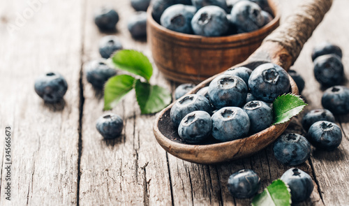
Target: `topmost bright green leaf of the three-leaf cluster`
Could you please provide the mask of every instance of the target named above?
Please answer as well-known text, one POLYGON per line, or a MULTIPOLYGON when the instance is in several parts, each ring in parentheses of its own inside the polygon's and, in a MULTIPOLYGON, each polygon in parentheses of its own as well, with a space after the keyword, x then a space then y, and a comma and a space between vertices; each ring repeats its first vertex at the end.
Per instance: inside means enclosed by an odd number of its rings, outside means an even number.
POLYGON ((140 75, 147 81, 153 74, 153 66, 149 59, 142 52, 135 50, 119 50, 112 57, 112 63, 117 68, 140 75))

